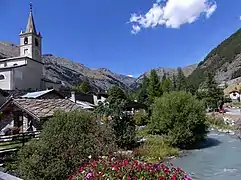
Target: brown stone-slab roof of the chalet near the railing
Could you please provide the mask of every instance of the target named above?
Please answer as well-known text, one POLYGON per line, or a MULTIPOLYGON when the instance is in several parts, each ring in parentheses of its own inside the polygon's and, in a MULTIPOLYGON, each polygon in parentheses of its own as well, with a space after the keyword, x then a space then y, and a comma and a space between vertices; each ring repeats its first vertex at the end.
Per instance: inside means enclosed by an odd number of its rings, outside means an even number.
POLYGON ((11 99, 1 107, 1 111, 10 103, 36 119, 51 117, 57 110, 70 112, 82 109, 68 99, 11 99))

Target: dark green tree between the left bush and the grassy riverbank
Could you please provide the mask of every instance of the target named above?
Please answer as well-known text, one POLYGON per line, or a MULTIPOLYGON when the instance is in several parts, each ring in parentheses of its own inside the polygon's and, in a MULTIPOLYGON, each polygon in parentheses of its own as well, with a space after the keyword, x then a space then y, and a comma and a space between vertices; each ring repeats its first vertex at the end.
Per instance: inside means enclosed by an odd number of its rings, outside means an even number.
POLYGON ((113 86, 108 91, 106 102, 97 108, 100 117, 110 117, 109 124, 113 128, 116 144, 124 149, 129 149, 135 142, 135 124, 126 113, 128 103, 124 91, 113 86))

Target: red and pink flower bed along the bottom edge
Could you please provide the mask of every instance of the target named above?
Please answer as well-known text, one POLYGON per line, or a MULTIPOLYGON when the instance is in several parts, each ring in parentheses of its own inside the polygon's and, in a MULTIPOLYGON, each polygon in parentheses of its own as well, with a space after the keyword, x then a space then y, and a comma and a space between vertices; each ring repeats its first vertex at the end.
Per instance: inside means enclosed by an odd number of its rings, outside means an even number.
POLYGON ((191 180, 180 168, 169 164, 150 164, 138 160, 104 157, 90 160, 68 180, 191 180))

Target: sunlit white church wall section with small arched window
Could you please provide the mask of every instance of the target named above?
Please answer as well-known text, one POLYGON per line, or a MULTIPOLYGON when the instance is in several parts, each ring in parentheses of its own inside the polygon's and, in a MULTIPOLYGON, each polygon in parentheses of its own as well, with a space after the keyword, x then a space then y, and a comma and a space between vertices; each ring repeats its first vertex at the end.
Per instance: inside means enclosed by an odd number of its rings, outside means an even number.
POLYGON ((0 70, 0 88, 3 90, 12 89, 12 71, 9 70, 0 70))

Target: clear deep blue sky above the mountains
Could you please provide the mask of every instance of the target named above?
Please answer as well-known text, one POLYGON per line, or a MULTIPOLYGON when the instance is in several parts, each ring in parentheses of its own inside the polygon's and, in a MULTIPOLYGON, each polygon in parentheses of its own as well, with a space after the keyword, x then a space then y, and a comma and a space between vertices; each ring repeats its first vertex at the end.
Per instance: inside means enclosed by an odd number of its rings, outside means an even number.
MULTIPOLYGON (((134 76, 197 63, 241 27, 240 0, 32 2, 43 53, 134 76)), ((28 0, 1 0, 0 40, 19 43, 28 13, 28 0)))

